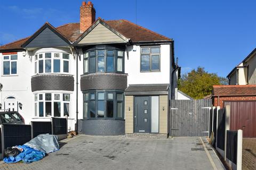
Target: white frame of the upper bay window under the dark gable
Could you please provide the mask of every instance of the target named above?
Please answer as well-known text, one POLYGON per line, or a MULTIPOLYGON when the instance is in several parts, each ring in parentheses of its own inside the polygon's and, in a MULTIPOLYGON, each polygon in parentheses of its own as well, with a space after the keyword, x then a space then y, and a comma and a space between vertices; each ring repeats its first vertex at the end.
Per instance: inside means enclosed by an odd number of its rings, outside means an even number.
POLYGON ((34 73, 35 74, 70 74, 70 54, 69 59, 63 59, 63 54, 69 54, 69 53, 63 53, 63 52, 43 52, 43 53, 36 53, 37 60, 35 60, 34 57, 34 73), (45 53, 51 53, 51 58, 45 58, 45 53), (42 54, 43 57, 39 58, 39 55, 42 54), (59 57, 54 57, 54 54, 59 54, 59 57), (43 60, 43 72, 39 73, 39 61, 43 60), (51 60, 51 72, 46 73, 45 72, 45 60, 51 60), (60 72, 54 72, 54 60, 60 60, 60 72), (68 72, 64 72, 64 61, 68 61, 68 72), (36 64, 35 64, 36 63, 36 64), (35 70, 35 65, 37 66, 37 70, 35 70))

